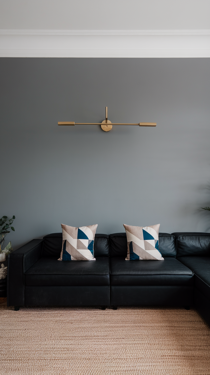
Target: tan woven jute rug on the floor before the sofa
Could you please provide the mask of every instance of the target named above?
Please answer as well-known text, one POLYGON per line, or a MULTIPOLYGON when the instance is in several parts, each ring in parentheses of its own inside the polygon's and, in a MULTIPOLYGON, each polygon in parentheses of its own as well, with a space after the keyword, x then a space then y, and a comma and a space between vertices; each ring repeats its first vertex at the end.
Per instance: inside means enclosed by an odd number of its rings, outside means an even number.
POLYGON ((0 305, 1 375, 209 375, 210 329, 193 309, 0 305))

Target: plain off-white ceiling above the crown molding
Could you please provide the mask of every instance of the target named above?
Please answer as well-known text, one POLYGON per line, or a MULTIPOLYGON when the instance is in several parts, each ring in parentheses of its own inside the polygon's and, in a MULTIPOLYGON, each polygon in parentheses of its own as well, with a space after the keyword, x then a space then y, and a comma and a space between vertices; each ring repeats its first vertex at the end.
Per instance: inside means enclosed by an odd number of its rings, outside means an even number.
POLYGON ((210 29, 210 0, 0 0, 1 29, 210 29))

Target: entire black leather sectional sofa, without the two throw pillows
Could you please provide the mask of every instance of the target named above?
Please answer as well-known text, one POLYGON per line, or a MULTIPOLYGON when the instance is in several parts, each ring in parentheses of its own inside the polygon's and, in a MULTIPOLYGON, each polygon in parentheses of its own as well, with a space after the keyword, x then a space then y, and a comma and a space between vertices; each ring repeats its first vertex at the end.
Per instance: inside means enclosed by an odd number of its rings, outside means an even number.
POLYGON ((210 233, 159 233, 164 261, 126 261, 125 233, 96 234, 96 261, 58 261, 62 233, 9 255, 7 305, 194 305, 210 324, 210 233))

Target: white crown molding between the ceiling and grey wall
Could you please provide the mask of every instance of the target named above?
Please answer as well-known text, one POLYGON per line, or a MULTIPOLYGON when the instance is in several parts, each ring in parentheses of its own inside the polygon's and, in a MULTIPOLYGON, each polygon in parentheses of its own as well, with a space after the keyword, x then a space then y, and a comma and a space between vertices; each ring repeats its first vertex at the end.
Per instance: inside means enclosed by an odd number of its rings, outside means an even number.
POLYGON ((210 57, 210 30, 0 30, 0 57, 210 57))

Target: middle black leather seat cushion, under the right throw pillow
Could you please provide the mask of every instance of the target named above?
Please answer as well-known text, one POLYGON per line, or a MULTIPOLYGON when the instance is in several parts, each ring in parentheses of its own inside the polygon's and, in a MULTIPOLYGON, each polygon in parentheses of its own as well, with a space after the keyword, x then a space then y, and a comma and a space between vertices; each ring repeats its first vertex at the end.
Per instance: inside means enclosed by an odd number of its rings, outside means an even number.
POLYGON ((194 273, 176 258, 163 261, 128 262, 124 257, 110 259, 110 285, 193 285, 194 273))

